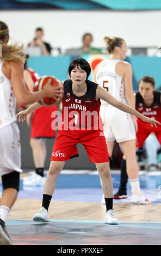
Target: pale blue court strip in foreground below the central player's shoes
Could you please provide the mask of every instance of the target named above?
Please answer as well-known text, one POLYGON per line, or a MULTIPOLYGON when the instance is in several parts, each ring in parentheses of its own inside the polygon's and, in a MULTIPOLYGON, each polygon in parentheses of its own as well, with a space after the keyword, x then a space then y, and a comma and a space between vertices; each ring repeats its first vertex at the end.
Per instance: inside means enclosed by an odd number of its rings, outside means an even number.
MULTIPOLYGON (((8 220, 13 245, 160 245, 161 222, 51 220, 8 220)), ((71 255, 71 254, 70 254, 71 255)), ((77 254, 76 254, 77 255, 77 254)))

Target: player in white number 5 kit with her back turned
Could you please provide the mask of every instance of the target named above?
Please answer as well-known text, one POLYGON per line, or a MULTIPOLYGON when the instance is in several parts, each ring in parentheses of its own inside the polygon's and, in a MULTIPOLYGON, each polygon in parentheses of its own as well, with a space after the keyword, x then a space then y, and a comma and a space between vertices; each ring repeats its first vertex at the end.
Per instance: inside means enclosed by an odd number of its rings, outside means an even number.
MULTIPOLYGON (((135 98, 132 84, 132 66, 123 61, 126 57, 126 41, 122 38, 104 36, 110 58, 96 66, 95 82, 106 88, 117 100, 135 108, 135 98)), ((140 190, 139 168, 135 147, 137 121, 131 114, 123 113, 119 109, 102 101, 100 114, 104 123, 104 135, 107 140, 109 154, 112 155, 114 141, 120 143, 123 150, 122 164, 126 165, 127 174, 131 181, 133 203, 149 204, 140 190)), ((127 197, 126 191, 121 191, 122 198, 127 197)), ((102 203, 103 203, 102 199, 102 203)))

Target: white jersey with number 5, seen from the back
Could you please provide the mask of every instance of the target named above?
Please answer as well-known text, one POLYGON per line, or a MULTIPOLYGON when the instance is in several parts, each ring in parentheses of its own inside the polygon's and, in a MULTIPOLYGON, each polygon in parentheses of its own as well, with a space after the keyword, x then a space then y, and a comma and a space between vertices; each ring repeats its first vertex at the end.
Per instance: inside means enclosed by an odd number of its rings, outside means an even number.
MULTIPOLYGON (((116 100, 127 104, 124 78, 119 76, 115 71, 116 64, 120 61, 121 60, 119 59, 103 60, 103 62, 100 63, 100 67, 96 75, 96 83, 104 89, 107 89, 116 100)), ((104 100, 101 100, 101 103, 102 105, 108 104, 104 100)))

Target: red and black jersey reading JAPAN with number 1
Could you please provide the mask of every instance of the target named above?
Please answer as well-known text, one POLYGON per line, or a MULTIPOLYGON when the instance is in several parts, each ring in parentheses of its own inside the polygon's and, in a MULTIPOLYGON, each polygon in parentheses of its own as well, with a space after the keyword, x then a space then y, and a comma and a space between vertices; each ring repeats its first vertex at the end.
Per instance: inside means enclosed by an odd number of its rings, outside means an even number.
POLYGON ((87 80, 86 86, 87 92, 78 97, 72 92, 72 81, 65 80, 59 130, 103 130, 101 102, 96 101, 98 84, 87 80))

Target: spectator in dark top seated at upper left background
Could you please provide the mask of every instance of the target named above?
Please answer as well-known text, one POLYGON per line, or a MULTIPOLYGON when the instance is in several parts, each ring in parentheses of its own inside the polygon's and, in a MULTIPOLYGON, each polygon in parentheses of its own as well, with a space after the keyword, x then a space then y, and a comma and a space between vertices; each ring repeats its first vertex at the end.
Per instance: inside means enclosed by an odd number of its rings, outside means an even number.
POLYGON ((28 47, 40 47, 41 54, 48 56, 51 54, 52 47, 43 41, 44 31, 42 28, 35 29, 35 38, 28 44, 28 47))

